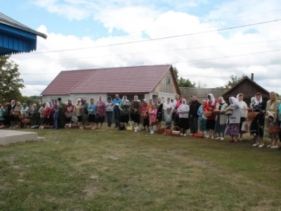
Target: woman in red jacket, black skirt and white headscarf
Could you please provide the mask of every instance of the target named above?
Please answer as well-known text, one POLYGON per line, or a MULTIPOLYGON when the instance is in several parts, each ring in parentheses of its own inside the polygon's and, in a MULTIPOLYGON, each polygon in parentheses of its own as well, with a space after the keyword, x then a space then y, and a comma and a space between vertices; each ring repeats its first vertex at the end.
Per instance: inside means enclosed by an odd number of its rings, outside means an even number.
MULTIPOLYGON (((214 111, 215 106, 218 101, 214 98, 213 94, 208 94, 207 96, 207 103, 205 104, 203 110, 204 111, 214 111)), ((210 117, 207 117, 207 122, 206 122, 206 129, 209 129, 209 136, 207 138, 214 139, 214 129, 216 125, 216 114, 213 112, 210 117)))

